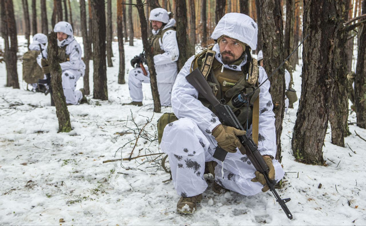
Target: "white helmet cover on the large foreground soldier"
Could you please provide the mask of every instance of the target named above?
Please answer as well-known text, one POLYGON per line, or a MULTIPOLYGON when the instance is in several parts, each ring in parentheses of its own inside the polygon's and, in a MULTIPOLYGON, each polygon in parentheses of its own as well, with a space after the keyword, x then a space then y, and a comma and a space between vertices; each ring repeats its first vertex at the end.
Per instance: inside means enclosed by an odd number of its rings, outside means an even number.
POLYGON ((217 23, 211 38, 218 39, 221 35, 238 39, 249 45, 252 50, 257 49, 257 23, 245 14, 236 12, 225 14, 217 23))

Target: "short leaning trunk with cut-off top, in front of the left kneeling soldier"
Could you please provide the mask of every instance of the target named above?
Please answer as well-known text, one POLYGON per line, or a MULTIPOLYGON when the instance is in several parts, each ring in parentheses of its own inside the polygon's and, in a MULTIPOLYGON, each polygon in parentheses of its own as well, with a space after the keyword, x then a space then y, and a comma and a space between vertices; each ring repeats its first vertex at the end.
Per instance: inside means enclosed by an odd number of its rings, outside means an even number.
POLYGON ((66 98, 62 88, 61 67, 59 61, 59 50, 57 46, 57 34, 51 31, 48 38, 48 63, 51 72, 52 97, 55 102, 56 116, 59 120, 59 132, 70 132, 70 114, 66 105, 66 98))

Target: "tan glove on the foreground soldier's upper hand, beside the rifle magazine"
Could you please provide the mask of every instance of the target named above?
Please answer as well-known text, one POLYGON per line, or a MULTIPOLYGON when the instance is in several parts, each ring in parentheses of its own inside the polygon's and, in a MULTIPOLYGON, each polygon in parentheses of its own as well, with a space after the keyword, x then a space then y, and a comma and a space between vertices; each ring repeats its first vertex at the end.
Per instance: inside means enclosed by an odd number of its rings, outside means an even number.
POLYGON ((226 125, 217 125, 212 130, 212 135, 215 137, 217 144, 227 152, 235 153, 236 147, 241 148, 238 136, 245 135, 245 131, 235 129, 226 125))

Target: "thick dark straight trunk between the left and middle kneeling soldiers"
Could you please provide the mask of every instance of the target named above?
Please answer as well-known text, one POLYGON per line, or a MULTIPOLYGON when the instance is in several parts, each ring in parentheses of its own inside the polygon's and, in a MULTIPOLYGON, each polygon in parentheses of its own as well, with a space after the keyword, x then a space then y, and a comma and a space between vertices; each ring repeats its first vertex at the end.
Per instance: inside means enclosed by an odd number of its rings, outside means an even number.
POLYGON ((107 67, 105 63, 105 6, 104 1, 90 0, 93 14, 93 98, 108 100, 107 67))

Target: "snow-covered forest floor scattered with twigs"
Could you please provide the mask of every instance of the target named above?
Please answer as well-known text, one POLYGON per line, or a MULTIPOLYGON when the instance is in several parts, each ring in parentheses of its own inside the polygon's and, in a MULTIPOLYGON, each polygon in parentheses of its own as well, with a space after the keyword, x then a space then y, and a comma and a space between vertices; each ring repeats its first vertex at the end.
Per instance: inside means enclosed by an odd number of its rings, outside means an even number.
MULTIPOLYGON (((23 46, 24 37, 18 38, 23 46)), ((141 40, 134 43, 124 46, 126 80, 130 59, 142 50, 141 40)), ((212 176, 207 175, 209 187, 198 211, 180 215, 176 213, 180 196, 172 182, 161 182, 169 175, 157 170, 153 161, 146 162, 156 155, 102 163, 127 158, 135 146, 134 131, 138 133, 137 126, 142 128, 147 120, 152 119, 145 131, 154 139, 156 120, 172 111, 153 113, 149 84, 143 84, 144 106, 121 105, 131 99, 127 83, 117 83, 117 45, 113 42, 114 67, 107 68, 109 100, 89 95, 89 105, 68 106, 73 127, 69 133, 57 133, 49 95, 25 91, 21 62, 20 90, 5 87, 5 65, 0 64, 0 225, 366 225, 366 142, 354 132, 366 138, 366 131, 350 125, 352 135, 345 140, 350 147, 341 148, 330 143, 329 129, 323 148, 328 166, 298 163, 291 150, 298 102, 285 114, 281 136, 286 174, 278 192, 291 198, 287 203, 294 215, 291 221, 269 192, 251 197, 235 192, 217 195, 211 189, 212 176)), ((90 66, 92 93, 92 62, 90 66)), ((296 66, 298 97, 300 74, 301 67, 296 66)), ((77 88, 82 86, 79 79, 77 88)), ((355 122, 355 113, 349 120, 355 122)), ((158 152, 157 141, 140 137, 132 157, 158 152)))

